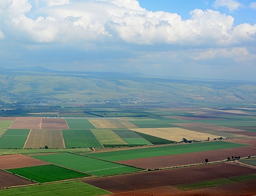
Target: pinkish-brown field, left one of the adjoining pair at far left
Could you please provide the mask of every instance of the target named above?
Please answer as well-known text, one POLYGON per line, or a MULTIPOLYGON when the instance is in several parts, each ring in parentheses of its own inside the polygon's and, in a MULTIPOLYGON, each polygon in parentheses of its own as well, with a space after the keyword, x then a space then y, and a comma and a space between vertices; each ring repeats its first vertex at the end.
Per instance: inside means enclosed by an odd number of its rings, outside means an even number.
POLYGON ((10 129, 41 129, 41 117, 17 117, 10 129))

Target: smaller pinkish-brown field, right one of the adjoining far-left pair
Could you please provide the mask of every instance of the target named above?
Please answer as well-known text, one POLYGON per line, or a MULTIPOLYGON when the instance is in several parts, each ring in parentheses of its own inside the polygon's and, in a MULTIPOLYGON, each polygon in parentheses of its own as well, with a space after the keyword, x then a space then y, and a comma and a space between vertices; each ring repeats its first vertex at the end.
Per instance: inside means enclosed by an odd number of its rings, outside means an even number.
POLYGON ((65 119, 43 118, 41 129, 69 129, 65 119))

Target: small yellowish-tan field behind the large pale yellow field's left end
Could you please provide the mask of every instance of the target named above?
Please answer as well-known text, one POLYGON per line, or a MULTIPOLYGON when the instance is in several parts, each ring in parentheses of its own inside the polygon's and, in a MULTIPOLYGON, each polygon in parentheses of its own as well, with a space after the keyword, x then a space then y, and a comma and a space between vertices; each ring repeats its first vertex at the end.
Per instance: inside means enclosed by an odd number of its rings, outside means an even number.
POLYGON ((138 128, 122 119, 88 119, 97 129, 138 128))

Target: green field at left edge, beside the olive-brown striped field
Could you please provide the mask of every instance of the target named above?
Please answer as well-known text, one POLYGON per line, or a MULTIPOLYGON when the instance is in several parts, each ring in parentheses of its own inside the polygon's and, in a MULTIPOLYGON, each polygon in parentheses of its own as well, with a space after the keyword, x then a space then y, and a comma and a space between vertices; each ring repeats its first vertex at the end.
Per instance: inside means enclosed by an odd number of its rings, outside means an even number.
POLYGON ((0 138, 1 149, 23 149, 29 129, 8 129, 0 138))

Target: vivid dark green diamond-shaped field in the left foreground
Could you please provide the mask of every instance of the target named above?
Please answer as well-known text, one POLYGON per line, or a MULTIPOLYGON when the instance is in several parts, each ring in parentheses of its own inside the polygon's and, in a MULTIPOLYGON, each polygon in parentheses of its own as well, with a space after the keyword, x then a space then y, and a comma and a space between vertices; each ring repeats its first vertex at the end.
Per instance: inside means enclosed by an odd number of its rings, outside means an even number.
POLYGON ((68 168, 56 166, 53 164, 29 166, 24 168, 8 169, 12 173, 16 173, 28 179, 33 179, 36 182, 53 182, 63 179, 72 179, 79 177, 88 177, 86 173, 73 171, 68 168))

